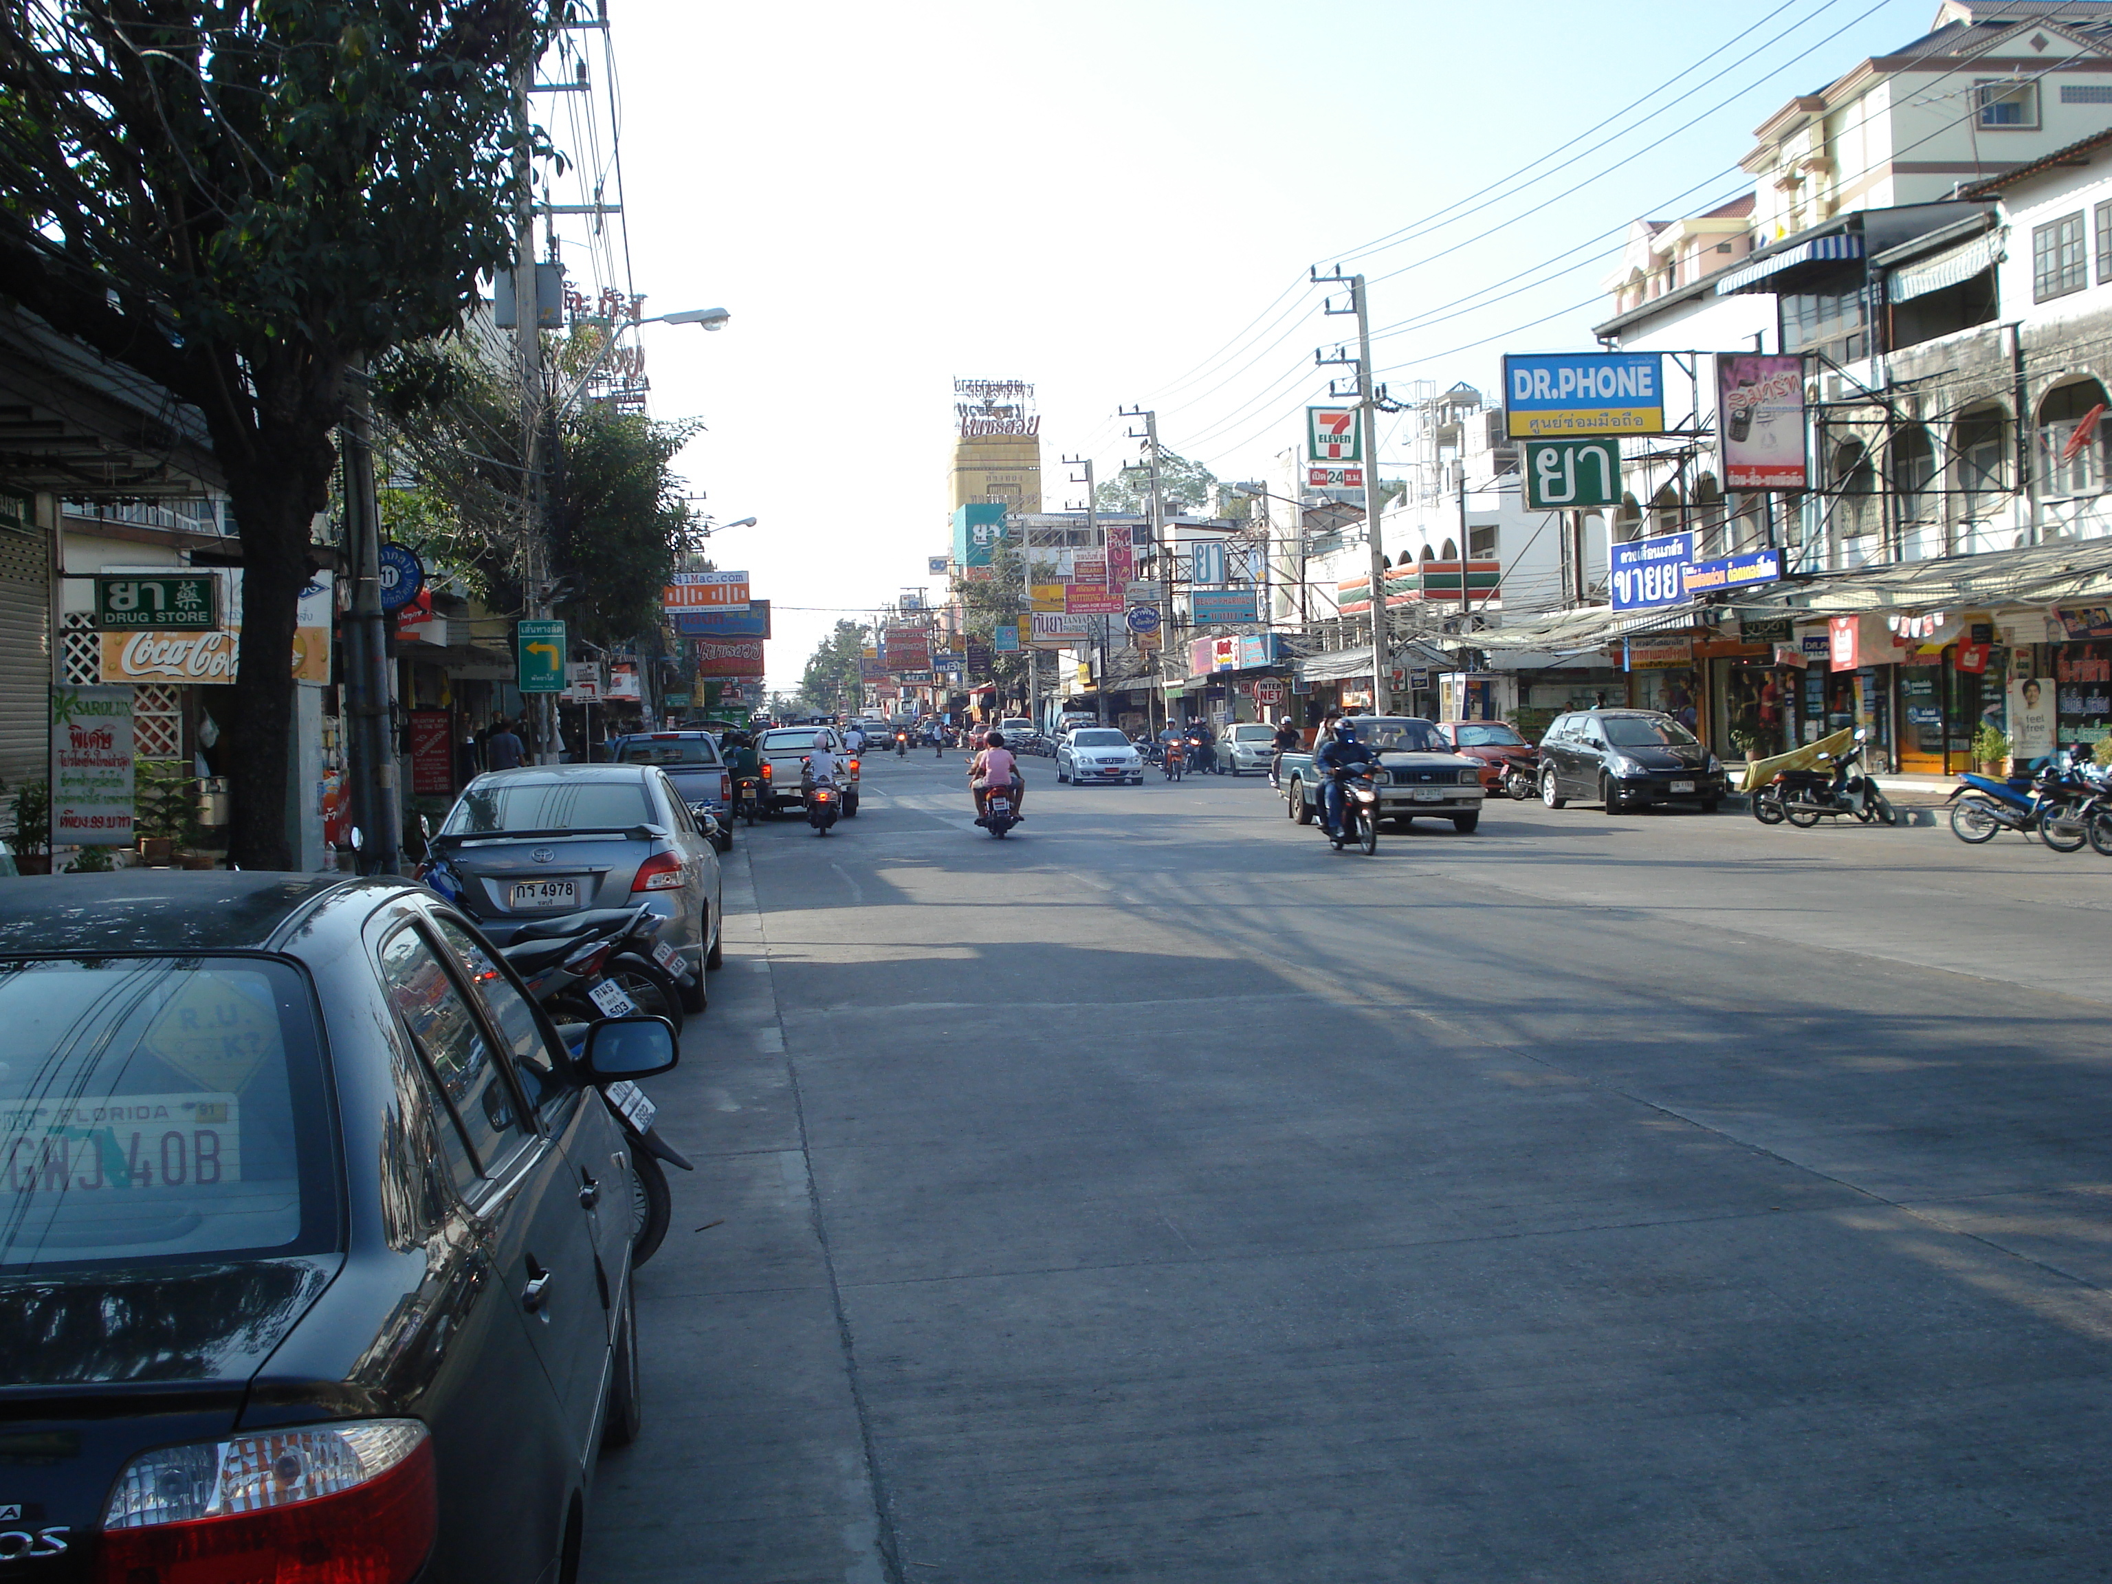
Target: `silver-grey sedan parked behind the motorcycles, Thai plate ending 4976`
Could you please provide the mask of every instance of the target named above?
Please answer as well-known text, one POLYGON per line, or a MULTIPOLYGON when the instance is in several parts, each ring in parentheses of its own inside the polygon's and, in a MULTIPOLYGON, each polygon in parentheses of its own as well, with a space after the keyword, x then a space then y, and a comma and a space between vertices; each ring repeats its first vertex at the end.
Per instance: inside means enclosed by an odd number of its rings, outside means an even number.
POLYGON ((718 967, 718 851, 655 765, 539 765, 471 781, 433 834, 460 906, 505 946, 530 919, 644 902, 661 944, 718 967))

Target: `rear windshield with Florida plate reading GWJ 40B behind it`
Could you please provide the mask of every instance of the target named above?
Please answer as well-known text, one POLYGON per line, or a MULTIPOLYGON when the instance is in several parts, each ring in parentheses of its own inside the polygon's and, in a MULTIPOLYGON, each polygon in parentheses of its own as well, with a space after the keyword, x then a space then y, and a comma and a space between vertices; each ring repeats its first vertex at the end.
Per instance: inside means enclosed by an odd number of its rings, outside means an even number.
POLYGON ((0 1269, 338 1242, 306 980, 260 957, 0 959, 0 1269))

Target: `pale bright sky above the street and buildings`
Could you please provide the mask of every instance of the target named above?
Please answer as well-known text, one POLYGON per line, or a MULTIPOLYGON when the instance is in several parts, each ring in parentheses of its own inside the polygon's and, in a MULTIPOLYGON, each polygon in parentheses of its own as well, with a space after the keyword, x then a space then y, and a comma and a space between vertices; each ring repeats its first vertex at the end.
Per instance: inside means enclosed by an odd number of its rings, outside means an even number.
POLYGON ((1293 444, 1312 348, 1352 323, 1282 296, 1309 264, 1411 230, 1356 260, 1375 323, 1430 319, 1377 348, 1396 389, 1588 346, 1633 218, 1738 192, 1753 127, 1935 11, 610 0, 646 313, 733 310, 716 336, 644 332, 653 408, 710 425, 686 475, 716 515, 760 520, 714 555, 775 602, 788 684, 838 608, 923 587, 946 547, 953 376, 1039 386, 1052 507, 1077 494, 1060 454, 1132 454, 1113 414, 1134 403, 1246 477, 1293 444), (1645 95, 1554 156, 1582 154, 1569 169, 1472 199, 1645 95), (1495 287, 1519 296, 1451 306, 1567 249, 1495 287))

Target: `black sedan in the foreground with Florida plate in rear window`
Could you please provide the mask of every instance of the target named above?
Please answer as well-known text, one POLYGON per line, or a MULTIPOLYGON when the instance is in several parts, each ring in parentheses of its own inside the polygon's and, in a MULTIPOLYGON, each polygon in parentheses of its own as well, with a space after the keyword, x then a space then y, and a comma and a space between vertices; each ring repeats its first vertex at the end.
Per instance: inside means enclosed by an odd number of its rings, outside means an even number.
POLYGON ((638 1432, 631 1183, 593 1083, 401 881, 0 883, 0 1569, 568 1578, 638 1432))

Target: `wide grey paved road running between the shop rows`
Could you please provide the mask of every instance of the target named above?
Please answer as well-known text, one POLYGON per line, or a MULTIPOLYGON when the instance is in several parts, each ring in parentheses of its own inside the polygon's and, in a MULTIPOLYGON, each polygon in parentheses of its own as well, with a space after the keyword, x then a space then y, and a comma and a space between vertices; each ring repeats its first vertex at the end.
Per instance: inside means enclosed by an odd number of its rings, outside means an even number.
POLYGON ((741 830, 587 1580, 2112 1571, 2112 864, 1029 775, 741 830))

